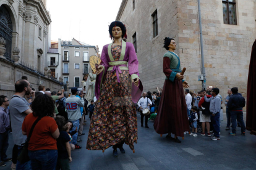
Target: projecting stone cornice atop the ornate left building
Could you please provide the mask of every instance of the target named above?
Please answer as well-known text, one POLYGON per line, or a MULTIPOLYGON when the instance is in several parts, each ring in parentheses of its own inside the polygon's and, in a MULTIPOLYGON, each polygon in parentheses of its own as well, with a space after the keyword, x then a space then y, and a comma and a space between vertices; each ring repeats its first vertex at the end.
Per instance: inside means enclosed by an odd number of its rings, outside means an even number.
POLYGON ((27 5, 35 6, 38 9, 38 13, 45 19, 46 25, 51 23, 51 18, 41 0, 24 0, 27 5))

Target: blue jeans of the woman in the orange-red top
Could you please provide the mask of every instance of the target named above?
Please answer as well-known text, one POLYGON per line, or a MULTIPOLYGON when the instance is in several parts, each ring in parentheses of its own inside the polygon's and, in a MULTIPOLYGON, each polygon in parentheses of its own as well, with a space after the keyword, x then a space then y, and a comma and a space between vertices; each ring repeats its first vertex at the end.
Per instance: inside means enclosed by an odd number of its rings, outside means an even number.
POLYGON ((55 170, 58 158, 57 150, 28 150, 32 170, 55 170))

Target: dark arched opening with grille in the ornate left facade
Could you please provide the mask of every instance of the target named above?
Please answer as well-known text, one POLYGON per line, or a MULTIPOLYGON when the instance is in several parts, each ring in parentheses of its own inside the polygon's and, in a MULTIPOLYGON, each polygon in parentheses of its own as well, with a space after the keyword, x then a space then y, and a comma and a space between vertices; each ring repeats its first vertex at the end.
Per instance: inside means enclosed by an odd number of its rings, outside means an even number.
POLYGON ((6 7, 0 7, 0 37, 6 39, 6 54, 4 57, 11 60, 12 54, 12 18, 6 7))

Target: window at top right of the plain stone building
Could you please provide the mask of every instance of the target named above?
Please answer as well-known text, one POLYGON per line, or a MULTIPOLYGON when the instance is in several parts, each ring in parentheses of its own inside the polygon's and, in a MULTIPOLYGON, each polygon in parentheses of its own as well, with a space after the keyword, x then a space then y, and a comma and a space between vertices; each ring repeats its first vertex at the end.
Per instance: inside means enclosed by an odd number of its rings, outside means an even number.
POLYGON ((223 0, 224 24, 237 25, 236 23, 236 0, 223 0))

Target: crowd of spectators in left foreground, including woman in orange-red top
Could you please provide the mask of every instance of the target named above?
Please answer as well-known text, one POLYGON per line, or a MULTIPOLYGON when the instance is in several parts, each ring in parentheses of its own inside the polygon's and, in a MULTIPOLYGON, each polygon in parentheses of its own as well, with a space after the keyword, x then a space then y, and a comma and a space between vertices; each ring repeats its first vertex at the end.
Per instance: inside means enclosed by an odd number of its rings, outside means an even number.
POLYGON ((0 95, 0 166, 12 161, 11 169, 70 169, 71 151, 80 149, 79 136, 85 135, 85 115, 92 116, 94 101, 85 99, 83 89, 72 87, 51 92, 39 86, 35 92, 26 76, 15 83, 11 99, 0 95), (14 147, 7 157, 9 132, 14 147), (23 150, 28 143, 30 161, 23 161, 23 150))

